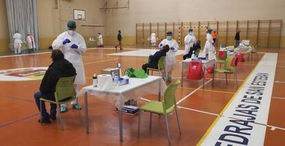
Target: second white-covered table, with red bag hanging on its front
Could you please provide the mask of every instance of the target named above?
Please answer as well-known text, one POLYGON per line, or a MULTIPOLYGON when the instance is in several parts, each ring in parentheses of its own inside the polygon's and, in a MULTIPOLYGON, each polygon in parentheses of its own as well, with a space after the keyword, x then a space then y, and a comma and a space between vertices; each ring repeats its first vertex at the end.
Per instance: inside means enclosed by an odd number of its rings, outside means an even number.
MULTIPOLYGON (((184 71, 188 71, 188 70, 184 70, 184 67, 189 68, 189 63, 191 62, 191 59, 185 59, 184 61, 181 61, 181 87, 183 87, 183 75, 184 75, 184 71)), ((209 66, 213 66, 213 68, 215 68, 215 59, 209 59, 209 60, 202 60, 202 65, 203 65, 203 73, 204 73, 204 77, 203 77, 203 88, 205 86, 205 74, 206 74, 206 70, 207 67, 209 66)))

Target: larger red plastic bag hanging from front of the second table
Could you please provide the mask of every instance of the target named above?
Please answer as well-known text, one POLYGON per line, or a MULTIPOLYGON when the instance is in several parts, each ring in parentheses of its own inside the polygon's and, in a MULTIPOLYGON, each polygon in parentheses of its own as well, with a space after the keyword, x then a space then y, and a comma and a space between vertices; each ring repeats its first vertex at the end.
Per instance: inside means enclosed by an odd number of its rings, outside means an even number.
POLYGON ((201 61, 191 61, 189 66, 189 71, 187 74, 187 79, 200 80, 204 77, 204 72, 202 69, 201 61))

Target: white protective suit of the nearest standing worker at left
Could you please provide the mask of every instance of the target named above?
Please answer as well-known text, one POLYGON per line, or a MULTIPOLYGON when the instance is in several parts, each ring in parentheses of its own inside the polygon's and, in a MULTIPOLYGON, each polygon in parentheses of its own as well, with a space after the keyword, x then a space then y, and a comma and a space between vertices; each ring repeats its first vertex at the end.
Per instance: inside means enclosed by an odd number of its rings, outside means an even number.
POLYGON ((59 49, 63 52, 64 58, 67 61, 70 61, 76 70, 76 77, 74 80, 75 85, 85 84, 85 72, 83 67, 82 55, 86 52, 86 44, 83 39, 83 36, 78 34, 77 32, 73 32, 72 36, 67 32, 63 32, 59 34, 57 38, 52 43, 52 48, 54 50, 59 49), (70 43, 66 43, 63 45, 63 41, 65 39, 70 39, 70 43), (77 49, 70 48, 72 44, 78 45, 77 49))

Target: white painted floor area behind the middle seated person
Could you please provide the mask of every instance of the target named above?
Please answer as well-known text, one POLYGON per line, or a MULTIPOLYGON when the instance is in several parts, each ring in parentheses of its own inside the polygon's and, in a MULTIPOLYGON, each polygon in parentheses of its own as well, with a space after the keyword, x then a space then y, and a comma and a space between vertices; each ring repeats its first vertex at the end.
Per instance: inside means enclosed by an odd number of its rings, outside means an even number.
MULTIPOLYGON (((141 49, 141 50, 134 50, 129 52, 118 52, 112 53, 107 55, 116 55, 116 56, 149 56, 150 54, 154 54, 158 51, 158 49, 141 49)), ((178 50, 176 52, 176 56, 184 54, 184 50, 178 50)))

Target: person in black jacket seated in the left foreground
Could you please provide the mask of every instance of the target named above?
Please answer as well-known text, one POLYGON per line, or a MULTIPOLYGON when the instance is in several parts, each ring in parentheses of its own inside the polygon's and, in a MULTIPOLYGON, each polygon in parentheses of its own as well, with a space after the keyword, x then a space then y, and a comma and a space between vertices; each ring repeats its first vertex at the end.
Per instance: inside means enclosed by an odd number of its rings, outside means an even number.
MULTIPOLYGON (((40 91, 34 94, 34 100, 36 101, 36 106, 40 109, 39 98, 45 98, 51 101, 55 101, 54 92, 56 90, 56 83, 61 77, 75 76, 76 70, 72 63, 64 59, 64 55, 61 50, 52 51, 52 64, 48 67, 41 81, 40 91)), ((42 122, 50 123, 50 118, 56 120, 56 105, 50 103, 50 115, 45 109, 45 103, 41 102, 42 107, 42 122)), ((40 122, 40 119, 39 119, 40 122)))

